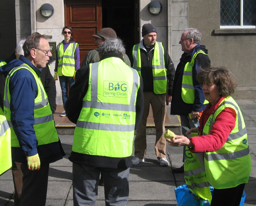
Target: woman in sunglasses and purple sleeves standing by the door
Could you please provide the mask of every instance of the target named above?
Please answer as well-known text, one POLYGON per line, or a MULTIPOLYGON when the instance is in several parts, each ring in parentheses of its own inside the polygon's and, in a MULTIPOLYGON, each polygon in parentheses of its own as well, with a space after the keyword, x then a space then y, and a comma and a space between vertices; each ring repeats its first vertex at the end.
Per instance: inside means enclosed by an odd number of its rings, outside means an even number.
POLYGON ((78 43, 73 38, 71 27, 65 26, 62 29, 64 40, 60 42, 56 49, 56 63, 54 79, 58 80, 62 92, 64 111, 60 116, 66 116, 65 103, 68 99, 68 90, 75 83, 75 73, 80 68, 80 54, 78 43))

